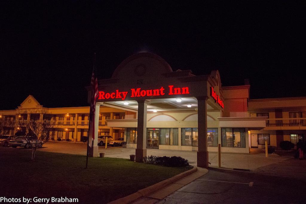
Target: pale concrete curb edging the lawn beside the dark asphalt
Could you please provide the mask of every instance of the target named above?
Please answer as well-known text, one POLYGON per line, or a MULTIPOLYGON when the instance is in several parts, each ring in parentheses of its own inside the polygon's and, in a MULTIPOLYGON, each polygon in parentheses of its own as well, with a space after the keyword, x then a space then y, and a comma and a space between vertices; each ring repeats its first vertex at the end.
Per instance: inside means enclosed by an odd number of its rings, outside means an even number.
POLYGON ((166 179, 166 180, 163 180, 157 184, 153 184, 147 188, 144 188, 144 189, 141 189, 139 191, 137 191, 136 193, 133 193, 131 195, 128 195, 128 196, 125 196, 123 198, 120 198, 120 199, 117 199, 117 200, 114 200, 112 202, 109 202, 109 204, 128 204, 136 199, 139 199, 141 197, 144 197, 144 196, 147 196, 147 195, 150 195, 152 193, 154 193, 155 191, 158 191, 162 188, 165 188, 166 186, 176 182, 177 180, 180 180, 186 176, 189 176, 190 174, 192 173, 195 173, 196 171, 198 170, 197 167, 193 166, 192 169, 188 170, 188 171, 185 171, 183 173, 180 173, 174 177, 171 177, 169 179, 166 179))

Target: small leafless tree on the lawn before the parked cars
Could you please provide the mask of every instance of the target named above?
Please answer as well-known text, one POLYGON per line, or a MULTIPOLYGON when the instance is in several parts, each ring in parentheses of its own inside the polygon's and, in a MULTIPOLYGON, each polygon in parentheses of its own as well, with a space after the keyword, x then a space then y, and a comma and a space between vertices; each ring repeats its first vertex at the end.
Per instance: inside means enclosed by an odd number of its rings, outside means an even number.
MULTIPOLYGON (((33 112, 27 114, 48 114, 46 111, 33 112)), ((50 113, 49 113, 50 114, 50 113)), ((32 148, 32 160, 35 158, 37 148, 42 147, 46 143, 50 136, 50 131, 55 128, 56 121, 52 118, 44 119, 43 117, 17 119, 15 128, 20 131, 24 131, 24 137, 27 140, 27 144, 32 148)))

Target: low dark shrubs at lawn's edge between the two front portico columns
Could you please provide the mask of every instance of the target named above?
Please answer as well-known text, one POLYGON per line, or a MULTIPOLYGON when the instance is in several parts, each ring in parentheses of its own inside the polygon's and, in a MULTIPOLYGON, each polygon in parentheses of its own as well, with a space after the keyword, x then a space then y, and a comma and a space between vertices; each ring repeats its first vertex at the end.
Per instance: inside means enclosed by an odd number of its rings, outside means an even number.
POLYGON ((181 167, 181 166, 189 166, 188 160, 172 156, 172 157, 157 157, 157 156, 147 156, 144 157, 144 162, 156 164, 156 165, 162 165, 162 166, 171 166, 171 167, 181 167))

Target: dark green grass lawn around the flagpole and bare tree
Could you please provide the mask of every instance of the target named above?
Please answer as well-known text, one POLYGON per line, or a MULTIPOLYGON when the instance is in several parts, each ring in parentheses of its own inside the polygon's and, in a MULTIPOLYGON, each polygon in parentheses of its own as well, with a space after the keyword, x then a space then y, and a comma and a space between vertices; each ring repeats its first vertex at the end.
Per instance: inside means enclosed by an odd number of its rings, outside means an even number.
POLYGON ((191 167, 164 167, 121 158, 86 156, 0 147, 0 196, 78 198, 107 203, 135 193, 191 167))

